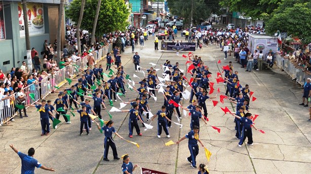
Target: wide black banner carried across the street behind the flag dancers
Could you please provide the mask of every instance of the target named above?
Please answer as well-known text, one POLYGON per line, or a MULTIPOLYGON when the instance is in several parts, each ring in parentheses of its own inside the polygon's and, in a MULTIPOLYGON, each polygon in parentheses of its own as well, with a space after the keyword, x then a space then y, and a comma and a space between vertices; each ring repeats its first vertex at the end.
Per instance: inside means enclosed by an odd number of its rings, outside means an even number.
POLYGON ((167 51, 196 51, 195 42, 161 42, 161 50, 167 51))

